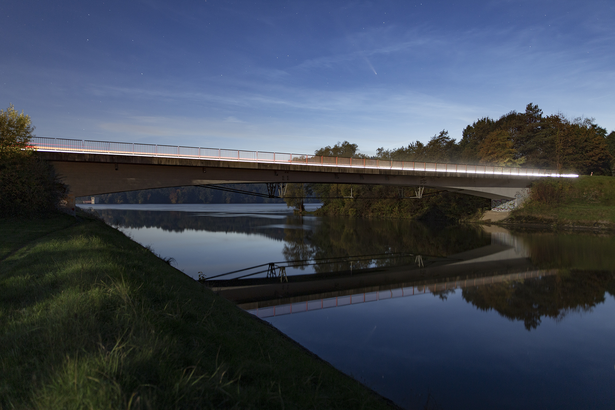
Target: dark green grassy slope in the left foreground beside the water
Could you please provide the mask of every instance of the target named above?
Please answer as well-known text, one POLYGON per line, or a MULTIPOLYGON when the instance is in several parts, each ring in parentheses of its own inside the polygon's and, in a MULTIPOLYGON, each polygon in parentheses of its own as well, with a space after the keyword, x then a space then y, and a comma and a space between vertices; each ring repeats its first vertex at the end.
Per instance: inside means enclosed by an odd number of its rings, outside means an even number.
POLYGON ((2 221, 0 409, 394 407, 101 221, 2 221))

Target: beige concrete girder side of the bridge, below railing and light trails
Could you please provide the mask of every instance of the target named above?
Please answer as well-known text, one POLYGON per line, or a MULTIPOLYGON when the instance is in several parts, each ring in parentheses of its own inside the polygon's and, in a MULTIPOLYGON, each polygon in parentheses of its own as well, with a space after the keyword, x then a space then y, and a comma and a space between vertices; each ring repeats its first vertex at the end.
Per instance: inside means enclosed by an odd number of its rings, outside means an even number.
POLYGON ((76 197, 174 186, 235 183, 330 183, 426 186, 488 199, 522 200, 537 177, 349 168, 235 160, 39 152, 76 197))

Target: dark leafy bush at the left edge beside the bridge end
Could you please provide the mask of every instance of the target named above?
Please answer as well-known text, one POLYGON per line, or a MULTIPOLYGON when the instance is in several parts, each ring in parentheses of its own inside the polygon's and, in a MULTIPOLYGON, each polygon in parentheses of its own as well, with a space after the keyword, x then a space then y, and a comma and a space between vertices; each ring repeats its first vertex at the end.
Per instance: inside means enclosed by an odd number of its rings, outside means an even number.
POLYGON ((33 131, 30 116, 12 105, 0 110, 0 215, 4 218, 46 215, 65 192, 52 167, 28 145, 33 131))

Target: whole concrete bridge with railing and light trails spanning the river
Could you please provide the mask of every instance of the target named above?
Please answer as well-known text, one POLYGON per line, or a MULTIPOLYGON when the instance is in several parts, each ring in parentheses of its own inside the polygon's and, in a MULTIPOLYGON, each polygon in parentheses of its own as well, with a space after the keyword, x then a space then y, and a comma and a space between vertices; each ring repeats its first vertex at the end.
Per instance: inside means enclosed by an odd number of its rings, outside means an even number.
POLYGON ((75 197, 174 186, 337 183, 423 186, 518 205, 530 184, 555 170, 442 164, 35 137, 75 197))

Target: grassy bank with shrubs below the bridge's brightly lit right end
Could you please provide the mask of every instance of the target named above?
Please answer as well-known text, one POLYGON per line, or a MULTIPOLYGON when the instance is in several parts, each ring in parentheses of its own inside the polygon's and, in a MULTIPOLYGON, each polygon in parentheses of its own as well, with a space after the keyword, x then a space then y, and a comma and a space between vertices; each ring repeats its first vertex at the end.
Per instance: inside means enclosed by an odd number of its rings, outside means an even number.
POLYGON ((579 176, 534 184, 530 199, 502 222, 615 229, 615 178, 579 176))

